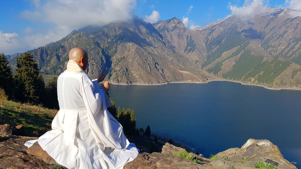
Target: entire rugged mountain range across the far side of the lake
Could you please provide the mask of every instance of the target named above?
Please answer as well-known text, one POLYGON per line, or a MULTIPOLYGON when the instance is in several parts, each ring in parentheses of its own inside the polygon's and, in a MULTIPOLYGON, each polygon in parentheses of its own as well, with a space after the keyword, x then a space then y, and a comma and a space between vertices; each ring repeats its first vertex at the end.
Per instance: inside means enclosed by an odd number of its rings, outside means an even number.
POLYGON ((89 55, 88 75, 95 78, 105 70, 106 80, 114 83, 228 79, 300 87, 301 17, 292 15, 299 11, 262 6, 257 10, 253 16, 232 15, 195 29, 178 18, 150 24, 136 16, 74 30, 29 52, 41 72, 59 75, 68 51, 81 47, 89 55))

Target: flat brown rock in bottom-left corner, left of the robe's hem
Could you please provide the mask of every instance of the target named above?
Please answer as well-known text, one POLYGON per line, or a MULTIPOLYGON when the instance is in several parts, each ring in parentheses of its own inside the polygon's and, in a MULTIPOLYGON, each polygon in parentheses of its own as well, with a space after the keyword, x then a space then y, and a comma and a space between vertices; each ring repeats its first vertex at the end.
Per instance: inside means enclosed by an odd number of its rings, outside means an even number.
POLYGON ((40 157, 26 153, 24 143, 37 137, 5 136, 9 140, 0 142, 0 168, 32 168, 53 169, 52 165, 46 164, 40 157))

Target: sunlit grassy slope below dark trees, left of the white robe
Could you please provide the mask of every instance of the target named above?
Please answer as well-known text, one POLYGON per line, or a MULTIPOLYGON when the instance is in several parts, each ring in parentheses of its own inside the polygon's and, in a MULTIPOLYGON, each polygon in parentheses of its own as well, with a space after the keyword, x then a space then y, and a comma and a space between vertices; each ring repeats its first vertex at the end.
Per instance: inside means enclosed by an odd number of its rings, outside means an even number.
POLYGON ((42 105, 21 104, 7 101, 0 105, 0 122, 23 125, 26 135, 40 136, 51 129, 51 122, 57 110, 43 108, 42 105))

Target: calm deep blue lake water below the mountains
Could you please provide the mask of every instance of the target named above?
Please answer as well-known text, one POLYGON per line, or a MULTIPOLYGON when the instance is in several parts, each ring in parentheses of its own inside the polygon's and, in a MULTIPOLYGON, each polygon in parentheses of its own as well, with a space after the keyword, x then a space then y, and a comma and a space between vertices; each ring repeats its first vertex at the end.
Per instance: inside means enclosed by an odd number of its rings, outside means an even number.
POLYGON ((301 90, 227 81, 112 85, 115 105, 135 110, 137 127, 209 154, 268 139, 301 168, 301 90))

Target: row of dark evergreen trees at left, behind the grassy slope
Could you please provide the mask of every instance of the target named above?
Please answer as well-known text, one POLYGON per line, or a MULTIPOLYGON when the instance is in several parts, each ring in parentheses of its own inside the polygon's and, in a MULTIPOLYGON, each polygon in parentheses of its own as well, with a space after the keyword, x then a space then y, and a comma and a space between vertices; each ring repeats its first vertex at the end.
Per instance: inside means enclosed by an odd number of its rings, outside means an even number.
POLYGON ((36 60, 29 52, 20 54, 16 60, 17 69, 13 73, 4 53, 0 54, 0 88, 5 91, 8 99, 58 109, 57 78, 54 77, 45 86, 36 60))

